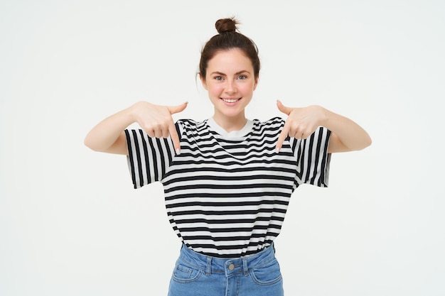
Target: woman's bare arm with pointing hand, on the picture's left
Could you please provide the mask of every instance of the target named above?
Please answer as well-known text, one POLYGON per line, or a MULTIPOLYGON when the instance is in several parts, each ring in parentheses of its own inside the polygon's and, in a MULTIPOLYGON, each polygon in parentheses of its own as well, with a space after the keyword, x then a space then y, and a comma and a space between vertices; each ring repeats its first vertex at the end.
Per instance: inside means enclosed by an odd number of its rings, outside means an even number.
POLYGON ((95 151, 127 155, 124 129, 136 122, 153 138, 171 136, 176 152, 179 153, 181 146, 171 114, 183 111, 186 106, 186 103, 178 106, 159 106, 138 102, 100 121, 87 134, 84 143, 95 151))

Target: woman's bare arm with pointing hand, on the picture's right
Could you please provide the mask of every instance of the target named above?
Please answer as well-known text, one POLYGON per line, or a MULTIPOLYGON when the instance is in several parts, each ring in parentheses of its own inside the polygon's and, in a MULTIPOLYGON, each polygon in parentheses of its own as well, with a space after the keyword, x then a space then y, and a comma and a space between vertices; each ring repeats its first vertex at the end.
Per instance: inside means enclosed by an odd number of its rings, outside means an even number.
POLYGON ((290 108, 279 101, 277 106, 280 111, 288 115, 277 141, 277 150, 282 147, 287 135, 294 138, 308 138, 318 126, 324 126, 332 132, 328 153, 361 150, 372 143, 370 136, 361 126, 321 106, 290 108))

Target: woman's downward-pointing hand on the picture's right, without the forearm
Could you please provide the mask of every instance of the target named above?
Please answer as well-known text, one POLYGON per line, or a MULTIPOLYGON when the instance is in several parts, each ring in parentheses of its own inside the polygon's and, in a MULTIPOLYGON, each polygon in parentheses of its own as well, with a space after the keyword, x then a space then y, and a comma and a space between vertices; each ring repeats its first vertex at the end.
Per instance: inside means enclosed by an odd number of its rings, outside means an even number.
POLYGON ((286 123, 275 147, 277 151, 282 148, 283 142, 288 135, 292 138, 308 138, 316 131, 318 126, 322 125, 323 120, 326 118, 325 109, 321 106, 291 108, 277 101, 277 107, 279 111, 287 115, 286 123))

